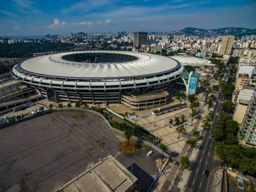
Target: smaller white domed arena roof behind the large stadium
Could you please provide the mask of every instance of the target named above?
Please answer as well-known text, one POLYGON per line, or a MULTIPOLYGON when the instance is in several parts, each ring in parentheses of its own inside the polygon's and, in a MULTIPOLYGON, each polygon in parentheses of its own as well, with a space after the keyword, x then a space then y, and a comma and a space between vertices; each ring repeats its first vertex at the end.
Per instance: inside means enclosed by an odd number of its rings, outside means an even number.
POLYGON ((207 59, 202 59, 194 56, 170 56, 172 59, 176 59, 179 61, 182 65, 191 65, 193 67, 198 67, 202 65, 209 65, 209 66, 215 66, 215 64, 212 64, 211 61, 207 59))

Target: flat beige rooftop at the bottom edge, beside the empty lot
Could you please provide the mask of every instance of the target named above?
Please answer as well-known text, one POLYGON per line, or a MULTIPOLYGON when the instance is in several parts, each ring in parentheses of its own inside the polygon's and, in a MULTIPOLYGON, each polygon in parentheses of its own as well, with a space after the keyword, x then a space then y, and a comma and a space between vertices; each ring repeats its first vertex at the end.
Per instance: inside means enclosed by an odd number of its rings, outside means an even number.
POLYGON ((123 192, 131 189, 138 179, 109 155, 62 187, 64 192, 123 192))

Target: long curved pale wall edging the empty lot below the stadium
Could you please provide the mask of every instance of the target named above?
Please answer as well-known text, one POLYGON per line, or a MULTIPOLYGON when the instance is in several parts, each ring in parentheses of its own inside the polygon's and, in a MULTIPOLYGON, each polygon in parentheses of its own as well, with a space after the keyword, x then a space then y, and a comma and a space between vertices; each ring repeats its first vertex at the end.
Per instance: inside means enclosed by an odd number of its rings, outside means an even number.
MULTIPOLYGON (((86 112, 90 112, 90 113, 94 113, 95 115, 99 115, 100 117, 102 117, 102 119, 105 120, 105 122, 108 124, 108 126, 110 127, 110 129, 112 129, 113 131, 116 131, 118 133, 121 133, 121 134, 124 134, 123 131, 120 131, 116 128, 113 128, 110 123, 108 122, 108 120, 100 113, 98 113, 97 111, 94 111, 94 110, 90 110, 90 109, 81 109, 81 108, 64 108, 64 109, 55 109, 55 110, 45 110, 43 113, 38 113, 38 114, 35 114, 33 116, 30 116, 30 117, 26 117, 26 118, 23 118, 21 120, 18 120, 18 121, 12 121, 12 122, 9 122, 9 123, 5 123, 3 125, 0 125, 0 129, 1 128, 5 128, 5 127, 8 127, 10 125, 15 125, 17 123, 21 123, 23 121, 26 121, 26 120, 30 120, 30 119, 33 119, 33 118, 37 118, 41 115, 46 115, 46 114, 49 114, 49 113, 52 113, 52 112, 57 112, 57 111, 86 111, 86 112)), ((146 144, 147 146, 150 146, 152 148, 154 148, 156 151, 158 151, 159 153, 163 153, 163 151, 158 148, 157 146, 155 146, 153 143, 149 143, 148 141, 145 141, 141 138, 138 138, 138 137, 135 137, 135 136, 132 136, 133 139, 135 139, 136 141, 139 141, 141 143, 144 143, 146 144)), ((166 152, 164 152, 164 156, 166 157, 169 157, 170 155, 167 154, 166 152)))

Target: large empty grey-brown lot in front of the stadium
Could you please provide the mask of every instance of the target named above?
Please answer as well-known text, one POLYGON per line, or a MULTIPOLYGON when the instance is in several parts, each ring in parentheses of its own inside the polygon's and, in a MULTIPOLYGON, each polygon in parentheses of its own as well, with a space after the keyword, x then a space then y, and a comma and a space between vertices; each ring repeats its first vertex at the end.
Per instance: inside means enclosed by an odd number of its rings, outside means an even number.
MULTIPOLYGON (((121 142, 97 115, 57 112, 0 130, 0 191, 24 179, 30 191, 54 191, 90 164, 119 151, 121 142), (104 142, 105 151, 97 147, 104 142)), ((79 113, 79 112, 76 112, 79 113)))

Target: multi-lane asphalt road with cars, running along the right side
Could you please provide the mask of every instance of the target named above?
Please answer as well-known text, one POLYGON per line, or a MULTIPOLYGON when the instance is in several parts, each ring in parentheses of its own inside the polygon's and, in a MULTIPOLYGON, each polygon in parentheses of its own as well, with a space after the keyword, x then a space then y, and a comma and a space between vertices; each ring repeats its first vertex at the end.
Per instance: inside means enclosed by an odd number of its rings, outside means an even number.
MULTIPOLYGON (((225 74, 225 79, 228 79, 230 74, 230 68, 225 74)), ((218 100, 224 99, 224 93, 222 92, 222 87, 218 95, 218 100)), ((223 113, 221 109, 221 102, 216 102, 215 108, 213 110, 213 116, 210 121, 212 125, 208 125, 204 137, 202 140, 201 148, 198 152, 197 159, 194 164, 194 169, 190 173, 189 180, 185 187, 185 192, 210 192, 214 188, 214 171, 219 166, 224 166, 223 161, 218 158, 218 155, 215 154, 215 140, 210 138, 210 135, 213 134, 213 129, 220 117, 220 114, 223 113), (219 113, 217 116, 216 113, 219 113), (208 177, 205 177, 205 170, 209 171, 208 177)))

